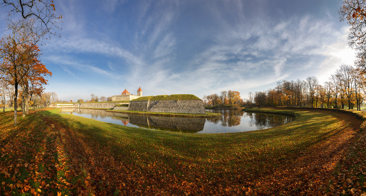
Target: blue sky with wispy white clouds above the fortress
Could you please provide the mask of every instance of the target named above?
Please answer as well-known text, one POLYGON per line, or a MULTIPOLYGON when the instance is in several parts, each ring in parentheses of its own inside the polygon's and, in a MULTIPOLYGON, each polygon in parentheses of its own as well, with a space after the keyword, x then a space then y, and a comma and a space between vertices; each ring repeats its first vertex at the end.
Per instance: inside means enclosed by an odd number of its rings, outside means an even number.
MULTIPOLYGON (((59 0, 63 16, 42 45, 52 72, 45 92, 61 100, 223 90, 242 98, 277 81, 320 84, 352 65, 343 0, 59 0)), ((4 18, 4 14, 0 14, 4 18)), ((4 26, 0 30, 7 34, 4 26)))

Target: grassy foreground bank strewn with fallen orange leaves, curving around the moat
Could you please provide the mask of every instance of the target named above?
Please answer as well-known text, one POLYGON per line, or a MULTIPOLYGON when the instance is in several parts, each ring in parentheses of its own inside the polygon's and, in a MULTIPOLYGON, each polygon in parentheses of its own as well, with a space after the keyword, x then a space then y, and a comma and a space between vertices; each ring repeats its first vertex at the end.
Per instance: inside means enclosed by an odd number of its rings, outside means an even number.
POLYGON ((15 128, 13 113, 0 113, 0 195, 366 192, 365 131, 348 114, 281 109, 297 119, 259 131, 191 134, 59 110, 32 111, 15 128))

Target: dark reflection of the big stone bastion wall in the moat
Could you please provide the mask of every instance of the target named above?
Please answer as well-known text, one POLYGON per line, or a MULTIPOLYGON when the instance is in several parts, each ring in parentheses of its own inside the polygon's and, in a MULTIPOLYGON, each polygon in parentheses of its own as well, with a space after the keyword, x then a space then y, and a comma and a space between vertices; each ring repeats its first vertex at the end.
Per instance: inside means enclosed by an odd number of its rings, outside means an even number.
POLYGON ((198 132, 203 130, 205 125, 205 119, 202 118, 144 116, 135 114, 129 114, 128 118, 131 124, 169 131, 182 130, 188 132, 198 132))

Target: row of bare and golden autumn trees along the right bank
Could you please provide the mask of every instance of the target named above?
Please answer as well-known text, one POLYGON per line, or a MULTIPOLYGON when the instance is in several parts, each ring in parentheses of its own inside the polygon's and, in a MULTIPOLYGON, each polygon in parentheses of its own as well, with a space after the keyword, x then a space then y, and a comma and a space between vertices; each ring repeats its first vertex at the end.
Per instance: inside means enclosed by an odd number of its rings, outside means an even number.
POLYGON ((305 80, 283 80, 273 89, 249 92, 247 103, 260 106, 348 108, 361 110, 365 100, 365 75, 342 64, 323 85, 315 76, 305 80))

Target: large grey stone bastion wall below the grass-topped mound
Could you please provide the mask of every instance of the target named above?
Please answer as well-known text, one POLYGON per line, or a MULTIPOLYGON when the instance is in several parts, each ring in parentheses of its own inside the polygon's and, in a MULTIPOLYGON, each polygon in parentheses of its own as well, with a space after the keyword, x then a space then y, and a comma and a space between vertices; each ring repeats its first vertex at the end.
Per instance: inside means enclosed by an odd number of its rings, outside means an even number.
POLYGON ((167 112, 206 114, 202 100, 158 100, 158 101, 130 101, 128 110, 141 112, 167 112))

